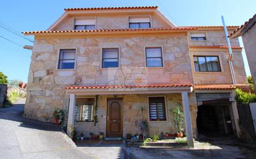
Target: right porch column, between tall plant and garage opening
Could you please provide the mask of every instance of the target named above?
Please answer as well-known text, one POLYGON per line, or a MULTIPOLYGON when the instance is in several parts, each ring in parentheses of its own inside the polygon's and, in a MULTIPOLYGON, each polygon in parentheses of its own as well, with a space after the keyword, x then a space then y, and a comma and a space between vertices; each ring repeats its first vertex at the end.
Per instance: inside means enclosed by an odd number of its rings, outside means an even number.
POLYGON ((186 140, 188 143, 188 147, 194 148, 193 131, 192 131, 191 117, 190 117, 190 105, 188 103, 188 92, 182 92, 181 95, 182 95, 182 103, 183 103, 184 118, 185 118, 186 140))

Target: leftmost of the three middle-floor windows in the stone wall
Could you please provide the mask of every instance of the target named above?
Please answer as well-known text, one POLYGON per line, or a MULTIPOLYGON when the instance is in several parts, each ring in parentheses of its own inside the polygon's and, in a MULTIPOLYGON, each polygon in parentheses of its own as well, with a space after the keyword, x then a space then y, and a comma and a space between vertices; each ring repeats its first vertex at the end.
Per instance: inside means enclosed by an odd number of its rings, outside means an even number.
POLYGON ((60 49, 58 69, 75 69, 76 49, 60 49))

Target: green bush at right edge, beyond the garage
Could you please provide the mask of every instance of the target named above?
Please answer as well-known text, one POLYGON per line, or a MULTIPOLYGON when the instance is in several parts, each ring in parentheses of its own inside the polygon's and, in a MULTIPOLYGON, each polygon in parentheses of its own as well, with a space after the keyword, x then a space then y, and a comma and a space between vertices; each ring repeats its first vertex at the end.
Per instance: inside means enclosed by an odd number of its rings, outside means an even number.
POLYGON ((256 94, 255 93, 247 93, 243 92, 239 88, 235 90, 235 100, 237 104, 248 104, 256 102, 256 94))

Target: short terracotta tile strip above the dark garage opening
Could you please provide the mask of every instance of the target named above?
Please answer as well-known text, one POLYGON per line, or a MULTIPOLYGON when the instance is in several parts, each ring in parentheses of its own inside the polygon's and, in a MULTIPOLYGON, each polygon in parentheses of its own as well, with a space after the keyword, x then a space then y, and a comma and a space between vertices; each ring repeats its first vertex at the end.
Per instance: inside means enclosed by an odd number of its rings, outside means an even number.
POLYGON ((194 85, 195 90, 231 90, 237 87, 248 87, 247 84, 209 84, 209 85, 194 85))

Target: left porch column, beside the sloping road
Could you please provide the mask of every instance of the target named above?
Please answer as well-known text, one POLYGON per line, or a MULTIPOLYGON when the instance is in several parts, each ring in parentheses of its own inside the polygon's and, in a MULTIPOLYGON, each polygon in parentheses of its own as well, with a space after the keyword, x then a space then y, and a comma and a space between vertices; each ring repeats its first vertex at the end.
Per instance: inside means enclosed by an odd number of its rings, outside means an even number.
POLYGON ((66 134, 68 134, 68 136, 70 138, 73 137, 72 133, 73 133, 73 128, 74 128, 75 104, 76 104, 75 95, 74 94, 70 94, 70 105, 69 105, 69 108, 68 108, 68 126, 67 126, 67 129, 66 129, 66 134))

